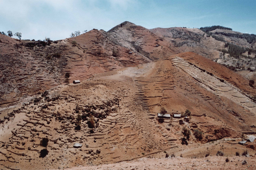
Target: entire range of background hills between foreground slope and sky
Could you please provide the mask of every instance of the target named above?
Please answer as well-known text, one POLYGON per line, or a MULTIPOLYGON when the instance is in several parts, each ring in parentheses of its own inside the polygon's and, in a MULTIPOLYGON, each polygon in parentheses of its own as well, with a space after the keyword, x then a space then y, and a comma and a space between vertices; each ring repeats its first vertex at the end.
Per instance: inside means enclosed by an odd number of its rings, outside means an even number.
POLYGON ((210 30, 146 29, 126 21, 108 32, 93 29, 54 42, 19 41, 0 34, 0 104, 63 84, 67 81, 66 73, 70 74, 69 82, 82 81, 97 73, 190 51, 234 71, 243 71, 241 74, 256 80, 255 74, 247 71, 254 71, 256 67, 254 35, 226 29, 210 30), (227 43, 230 45, 225 46, 227 43), (242 57, 230 56, 230 46, 232 50, 239 49, 242 57))

